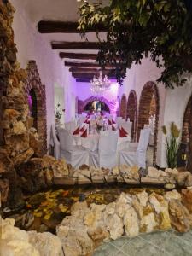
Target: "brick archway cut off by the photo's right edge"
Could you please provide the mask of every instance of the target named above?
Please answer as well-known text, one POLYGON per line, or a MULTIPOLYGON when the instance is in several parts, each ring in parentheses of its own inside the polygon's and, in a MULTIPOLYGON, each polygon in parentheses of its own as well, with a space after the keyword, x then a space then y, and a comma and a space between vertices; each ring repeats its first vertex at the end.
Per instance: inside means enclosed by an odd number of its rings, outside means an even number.
POLYGON ((183 116, 182 143, 189 143, 188 170, 192 172, 192 96, 183 116))

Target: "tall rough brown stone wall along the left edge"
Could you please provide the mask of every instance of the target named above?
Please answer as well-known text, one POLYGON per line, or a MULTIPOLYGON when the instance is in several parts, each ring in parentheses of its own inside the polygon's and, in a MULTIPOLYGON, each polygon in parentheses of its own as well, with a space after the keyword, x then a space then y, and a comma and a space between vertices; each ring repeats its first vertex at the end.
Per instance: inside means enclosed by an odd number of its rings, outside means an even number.
POLYGON ((26 71, 16 61, 17 49, 12 29, 15 9, 0 2, 0 87, 2 88, 3 143, 0 148, 1 201, 18 205, 22 196, 15 167, 29 160, 38 146, 38 134, 32 128, 26 100, 26 71))

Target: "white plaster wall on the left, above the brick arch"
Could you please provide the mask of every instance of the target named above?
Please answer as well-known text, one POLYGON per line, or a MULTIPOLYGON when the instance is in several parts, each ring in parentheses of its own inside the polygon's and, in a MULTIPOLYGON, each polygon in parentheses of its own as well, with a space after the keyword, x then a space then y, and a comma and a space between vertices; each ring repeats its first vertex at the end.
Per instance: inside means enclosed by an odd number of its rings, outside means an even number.
MULTIPOLYGON (((46 86, 47 99, 47 130, 48 144, 50 125, 54 122, 54 84, 65 87, 65 98, 69 98, 75 93, 76 83, 71 78, 67 68, 64 67, 63 61, 58 53, 51 49, 51 46, 44 35, 38 33, 37 28, 29 20, 26 11, 17 0, 11 0, 16 11, 14 16, 13 28, 15 31, 15 44, 18 49, 17 59, 21 67, 26 68, 28 61, 35 60, 38 65, 38 71, 42 84, 46 86), (72 85, 72 86, 70 86, 72 85), (66 88, 67 87, 67 88, 66 88)), ((64 102, 67 103, 65 99, 64 102)), ((68 104, 68 103, 67 103, 68 104)), ((71 108, 74 108, 70 103, 71 108)), ((66 106, 67 109, 68 105, 66 106)), ((73 117, 73 111, 67 113, 67 119, 73 117)))

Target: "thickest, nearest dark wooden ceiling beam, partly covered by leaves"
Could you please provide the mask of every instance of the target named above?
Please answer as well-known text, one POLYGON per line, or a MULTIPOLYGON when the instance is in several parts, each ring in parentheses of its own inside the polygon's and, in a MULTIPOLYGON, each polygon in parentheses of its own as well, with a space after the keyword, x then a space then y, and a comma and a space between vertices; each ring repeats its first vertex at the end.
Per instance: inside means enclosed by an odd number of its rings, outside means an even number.
MULTIPOLYGON (((40 20, 38 22, 38 32, 40 33, 79 33, 78 22, 40 20)), ((88 29, 86 32, 107 32, 101 25, 88 29)))

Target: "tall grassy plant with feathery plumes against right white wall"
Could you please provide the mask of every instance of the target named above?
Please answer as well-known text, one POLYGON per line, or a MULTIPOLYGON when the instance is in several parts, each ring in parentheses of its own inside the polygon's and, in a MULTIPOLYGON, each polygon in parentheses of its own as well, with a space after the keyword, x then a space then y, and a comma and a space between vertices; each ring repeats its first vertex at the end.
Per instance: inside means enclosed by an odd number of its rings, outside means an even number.
POLYGON ((177 151, 179 148, 179 134, 180 130, 177 125, 172 122, 170 125, 170 134, 167 135, 166 126, 162 126, 162 131, 166 136, 166 163, 170 168, 177 167, 177 151))

